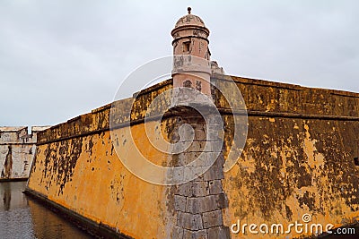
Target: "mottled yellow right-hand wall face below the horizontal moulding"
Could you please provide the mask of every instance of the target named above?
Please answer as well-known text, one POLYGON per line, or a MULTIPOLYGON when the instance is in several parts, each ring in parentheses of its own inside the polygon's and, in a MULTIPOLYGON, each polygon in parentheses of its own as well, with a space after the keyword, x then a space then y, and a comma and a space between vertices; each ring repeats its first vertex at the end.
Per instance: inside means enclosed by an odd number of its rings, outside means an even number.
POLYGON ((323 226, 354 222, 359 170, 351 150, 357 147, 357 122, 257 116, 249 122, 258 127, 250 126, 246 149, 223 182, 226 225, 239 219, 287 226, 302 222, 306 213, 323 226))

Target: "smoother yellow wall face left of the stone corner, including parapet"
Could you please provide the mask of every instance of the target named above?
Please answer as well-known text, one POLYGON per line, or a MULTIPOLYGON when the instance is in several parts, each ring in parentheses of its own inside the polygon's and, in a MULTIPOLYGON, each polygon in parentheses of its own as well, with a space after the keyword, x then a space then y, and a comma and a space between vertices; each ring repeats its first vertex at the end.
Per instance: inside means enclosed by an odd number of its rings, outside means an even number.
MULTIPOLYGON (((164 83, 162 90, 166 87, 164 83)), ((142 102, 151 100, 139 98, 142 102)), ((173 225, 169 214, 173 208, 170 188, 144 182, 123 166, 110 139, 109 107, 101 107, 39 135, 28 189, 123 235, 169 237, 173 225)), ((124 110, 126 107, 125 102, 124 110)), ((137 109, 133 117, 138 112, 141 110, 137 109)), ((144 124, 131 126, 131 131, 138 148, 144 149, 149 160, 159 165, 168 161, 166 155, 142 137, 144 124)), ((123 132, 124 128, 116 130, 118 134, 123 132)), ((127 147, 126 142, 119 143, 127 147)), ((129 149, 129 154, 130 150, 133 149, 129 149)))

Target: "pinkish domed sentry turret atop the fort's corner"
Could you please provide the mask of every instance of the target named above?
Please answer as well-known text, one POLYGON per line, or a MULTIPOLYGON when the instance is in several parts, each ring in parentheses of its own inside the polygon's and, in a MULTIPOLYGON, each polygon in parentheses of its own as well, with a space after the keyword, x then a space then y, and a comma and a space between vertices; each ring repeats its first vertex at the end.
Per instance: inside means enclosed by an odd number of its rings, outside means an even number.
POLYGON ((181 17, 171 31, 173 37, 173 87, 189 87, 211 96, 209 30, 204 21, 190 13, 181 17))

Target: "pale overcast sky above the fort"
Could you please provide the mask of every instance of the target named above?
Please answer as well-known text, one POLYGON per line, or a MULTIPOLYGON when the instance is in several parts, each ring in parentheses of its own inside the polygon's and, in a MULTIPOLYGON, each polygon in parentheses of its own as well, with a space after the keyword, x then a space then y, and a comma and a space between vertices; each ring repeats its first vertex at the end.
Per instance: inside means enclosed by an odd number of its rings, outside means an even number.
POLYGON ((0 0, 0 125, 58 124, 111 102, 128 73, 171 55, 188 5, 226 73, 359 92, 358 3, 0 0))

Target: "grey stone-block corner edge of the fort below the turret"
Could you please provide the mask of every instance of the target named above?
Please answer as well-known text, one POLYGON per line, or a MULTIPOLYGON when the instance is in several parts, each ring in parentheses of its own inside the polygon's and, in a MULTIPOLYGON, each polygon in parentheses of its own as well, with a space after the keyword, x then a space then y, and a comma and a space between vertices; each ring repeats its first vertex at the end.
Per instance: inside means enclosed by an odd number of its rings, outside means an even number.
MULTIPOLYGON (((224 178, 222 148, 216 147, 219 149, 217 152, 204 150, 205 146, 215 149, 212 145, 223 141, 214 136, 211 137, 212 141, 207 140, 209 137, 206 137, 206 132, 210 125, 206 125, 205 119, 196 111, 188 108, 183 110, 182 115, 186 117, 178 118, 178 124, 174 125, 170 138, 179 139, 178 133, 182 124, 191 125, 195 129, 195 137, 191 141, 191 147, 174 155, 175 166, 187 166, 190 172, 188 164, 201 156, 205 160, 200 161, 200 166, 210 166, 210 168, 203 175, 198 175, 196 179, 174 186, 174 211, 177 215, 177 222, 173 227, 172 238, 230 238, 228 226, 223 226, 222 209, 228 205, 224 203, 225 196, 221 182, 224 178), (215 153, 218 153, 218 158, 213 158, 215 153), (176 161, 177 158, 180 160, 176 161), (215 159, 213 165, 211 165, 211 159, 215 159)), ((173 143, 176 142, 173 141, 173 143)))

